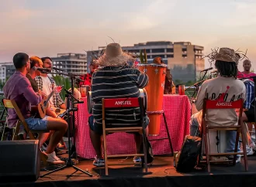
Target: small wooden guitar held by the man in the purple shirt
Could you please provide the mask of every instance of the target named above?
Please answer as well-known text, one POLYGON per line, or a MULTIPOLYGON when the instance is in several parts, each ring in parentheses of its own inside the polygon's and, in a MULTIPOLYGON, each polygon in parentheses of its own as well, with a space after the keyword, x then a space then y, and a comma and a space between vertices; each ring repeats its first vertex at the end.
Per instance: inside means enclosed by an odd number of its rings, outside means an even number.
POLYGON ((37 106, 32 107, 33 113, 36 113, 36 117, 40 117, 43 119, 43 117, 46 116, 47 109, 50 107, 50 97, 52 97, 55 92, 60 93, 63 87, 64 86, 55 87, 54 90, 52 90, 47 97, 44 97, 37 106))

